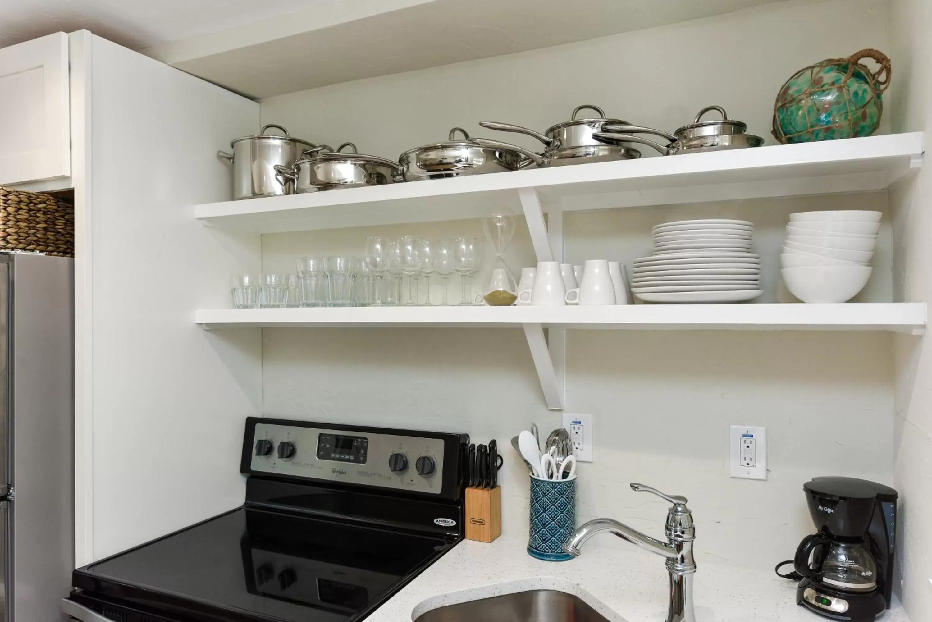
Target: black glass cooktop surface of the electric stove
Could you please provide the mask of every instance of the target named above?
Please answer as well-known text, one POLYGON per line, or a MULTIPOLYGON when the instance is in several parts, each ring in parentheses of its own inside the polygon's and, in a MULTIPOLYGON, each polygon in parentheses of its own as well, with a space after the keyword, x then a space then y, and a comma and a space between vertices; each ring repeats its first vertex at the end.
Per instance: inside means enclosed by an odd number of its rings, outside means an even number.
POLYGON ((75 587, 207 618, 368 615, 455 539, 242 507, 75 571, 75 587))

